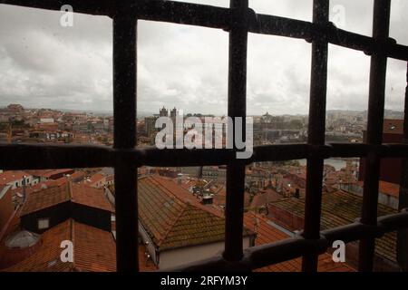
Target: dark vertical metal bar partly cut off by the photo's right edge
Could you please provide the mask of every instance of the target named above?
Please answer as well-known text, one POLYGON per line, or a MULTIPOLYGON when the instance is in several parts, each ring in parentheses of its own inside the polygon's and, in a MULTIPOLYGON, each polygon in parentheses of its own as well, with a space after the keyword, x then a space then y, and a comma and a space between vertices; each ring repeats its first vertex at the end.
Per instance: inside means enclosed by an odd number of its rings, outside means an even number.
MULTIPOLYGON (((405 108, 403 114, 403 143, 408 143, 408 63, 406 68, 405 108)), ((402 160, 398 208, 408 208, 408 159, 402 160)), ((397 233, 397 261, 404 272, 408 272, 408 229, 397 233)))

